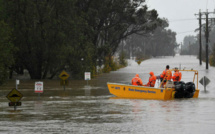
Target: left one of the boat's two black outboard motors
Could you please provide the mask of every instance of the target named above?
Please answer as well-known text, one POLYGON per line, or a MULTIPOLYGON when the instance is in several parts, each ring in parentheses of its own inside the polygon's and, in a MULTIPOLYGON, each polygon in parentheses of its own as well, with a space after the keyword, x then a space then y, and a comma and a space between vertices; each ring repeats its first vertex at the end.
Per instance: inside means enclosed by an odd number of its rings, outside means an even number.
POLYGON ((184 98, 185 83, 183 81, 175 82, 175 98, 184 98))

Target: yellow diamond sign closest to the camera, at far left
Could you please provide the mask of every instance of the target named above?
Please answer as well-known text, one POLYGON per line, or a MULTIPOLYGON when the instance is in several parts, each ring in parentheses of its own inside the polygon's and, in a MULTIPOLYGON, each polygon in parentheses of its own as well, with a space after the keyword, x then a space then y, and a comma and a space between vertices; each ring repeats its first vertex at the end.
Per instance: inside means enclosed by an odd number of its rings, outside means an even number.
POLYGON ((14 88, 6 97, 11 102, 18 102, 23 97, 23 95, 17 89, 14 88))

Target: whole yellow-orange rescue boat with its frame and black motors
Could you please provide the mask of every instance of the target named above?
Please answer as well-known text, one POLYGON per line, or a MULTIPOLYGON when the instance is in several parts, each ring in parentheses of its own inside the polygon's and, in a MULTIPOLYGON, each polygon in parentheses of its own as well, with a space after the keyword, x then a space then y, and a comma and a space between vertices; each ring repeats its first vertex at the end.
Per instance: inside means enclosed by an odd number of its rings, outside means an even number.
MULTIPOLYGON (((173 70, 171 70, 173 71, 173 70)), ((198 71, 197 70, 179 70, 194 72, 193 80, 190 82, 172 82, 167 81, 162 87, 162 82, 155 87, 135 86, 130 84, 107 82, 109 92, 118 98, 131 99, 155 99, 171 100, 175 98, 198 98, 198 71)))

